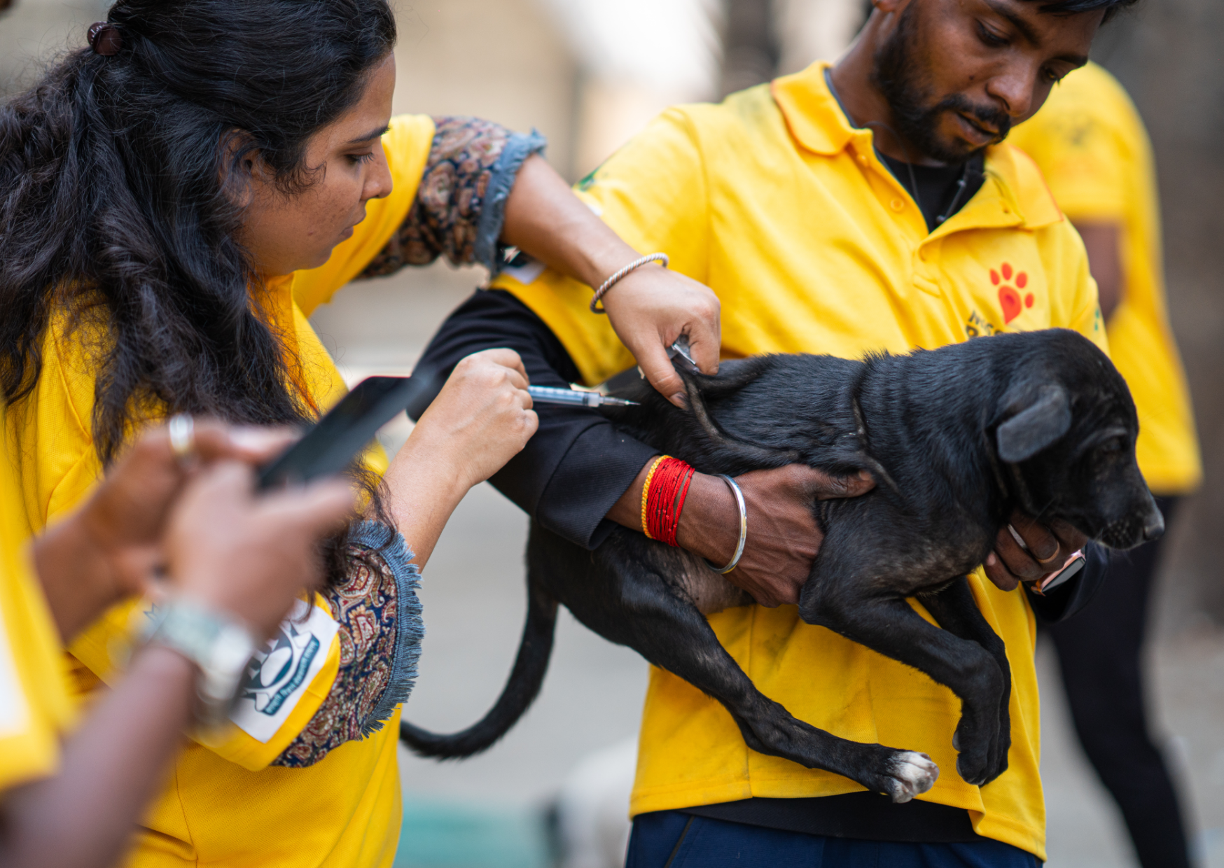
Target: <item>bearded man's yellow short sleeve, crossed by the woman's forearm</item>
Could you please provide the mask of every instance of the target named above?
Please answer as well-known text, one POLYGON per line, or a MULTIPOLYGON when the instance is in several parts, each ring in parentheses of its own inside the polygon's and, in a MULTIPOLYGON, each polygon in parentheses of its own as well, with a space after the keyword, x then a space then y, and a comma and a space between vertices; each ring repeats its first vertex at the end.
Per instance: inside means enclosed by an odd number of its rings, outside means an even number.
MULTIPOLYGON (((667 253, 672 271, 706 282, 707 191, 701 149, 682 110, 656 118, 577 190, 638 252, 667 253)), ((590 286, 553 271, 530 283, 503 272, 492 285, 513 293, 547 323, 584 383, 602 382, 635 364, 608 318, 589 310, 590 286)))

